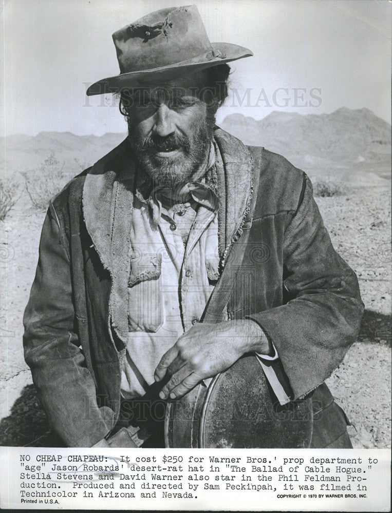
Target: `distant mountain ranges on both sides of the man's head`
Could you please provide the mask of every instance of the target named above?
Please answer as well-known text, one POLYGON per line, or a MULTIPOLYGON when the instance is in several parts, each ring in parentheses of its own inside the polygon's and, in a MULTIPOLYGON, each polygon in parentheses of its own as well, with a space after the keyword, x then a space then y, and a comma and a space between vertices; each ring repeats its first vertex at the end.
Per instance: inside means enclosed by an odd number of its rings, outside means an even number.
MULTIPOLYGON (((271 112, 260 121, 242 114, 227 116, 220 126, 246 144, 283 154, 303 169, 366 166, 388 167, 390 125, 368 109, 345 107, 331 114, 301 115, 271 112)), ((5 152, 0 171, 8 175, 34 172, 51 154, 70 176, 94 164, 125 139, 125 133, 102 136, 41 132, 35 137, 10 135, 0 139, 5 152)))

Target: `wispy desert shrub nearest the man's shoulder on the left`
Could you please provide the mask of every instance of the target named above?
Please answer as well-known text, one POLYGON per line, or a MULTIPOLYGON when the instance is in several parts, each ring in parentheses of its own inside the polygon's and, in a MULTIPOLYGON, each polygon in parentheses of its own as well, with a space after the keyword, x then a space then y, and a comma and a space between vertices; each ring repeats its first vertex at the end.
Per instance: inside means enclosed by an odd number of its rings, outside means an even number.
POLYGON ((60 164, 53 153, 44 160, 38 170, 22 174, 31 203, 39 210, 46 210, 49 200, 69 180, 69 176, 64 171, 64 163, 60 164))

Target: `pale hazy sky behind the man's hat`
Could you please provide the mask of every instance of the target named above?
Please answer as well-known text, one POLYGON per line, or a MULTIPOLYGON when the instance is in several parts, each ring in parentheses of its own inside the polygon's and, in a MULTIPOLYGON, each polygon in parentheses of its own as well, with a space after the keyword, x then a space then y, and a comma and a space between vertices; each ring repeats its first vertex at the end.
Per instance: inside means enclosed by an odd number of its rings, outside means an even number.
MULTIPOLYGON (((272 110, 321 114, 342 106, 367 107, 390 121, 391 3, 194 3, 211 42, 235 43, 254 52, 253 57, 232 64, 231 88, 236 92, 221 108, 218 121, 234 112, 262 119, 272 110), (298 88, 305 91, 294 90, 298 88)), ((111 96, 86 100, 85 83, 119 73, 113 32, 148 12, 183 4, 183 0, 6 0, 1 34, 5 49, 0 56, 1 135, 125 131, 111 96)))

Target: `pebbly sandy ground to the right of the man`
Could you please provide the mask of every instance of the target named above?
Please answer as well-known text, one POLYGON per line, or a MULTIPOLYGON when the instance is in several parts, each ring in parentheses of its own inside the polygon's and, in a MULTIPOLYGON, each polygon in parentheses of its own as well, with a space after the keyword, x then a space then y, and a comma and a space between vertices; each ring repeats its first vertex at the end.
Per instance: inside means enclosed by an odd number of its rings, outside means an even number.
POLYGON ((358 275, 366 309, 359 341, 327 384, 352 423, 353 446, 390 448, 390 192, 361 188, 317 202, 335 249, 358 275))

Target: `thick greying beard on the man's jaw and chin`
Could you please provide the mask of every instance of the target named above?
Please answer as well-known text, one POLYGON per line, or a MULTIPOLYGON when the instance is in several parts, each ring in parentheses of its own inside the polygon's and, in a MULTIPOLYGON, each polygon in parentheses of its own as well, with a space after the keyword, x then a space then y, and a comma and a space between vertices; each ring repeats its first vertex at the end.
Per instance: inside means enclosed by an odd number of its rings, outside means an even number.
POLYGON ((180 153, 176 157, 160 157, 153 143, 141 140, 133 131, 128 120, 130 143, 136 153, 140 169, 150 176, 153 185, 178 187, 190 182, 192 175, 206 161, 211 146, 215 125, 215 115, 206 120, 193 133, 191 140, 182 140, 180 153))

